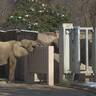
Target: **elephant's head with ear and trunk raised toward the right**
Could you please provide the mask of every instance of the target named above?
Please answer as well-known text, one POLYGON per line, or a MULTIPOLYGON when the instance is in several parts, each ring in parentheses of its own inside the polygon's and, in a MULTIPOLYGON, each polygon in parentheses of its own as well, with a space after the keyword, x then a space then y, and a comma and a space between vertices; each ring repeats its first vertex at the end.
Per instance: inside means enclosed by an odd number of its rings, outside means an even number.
POLYGON ((16 57, 21 57, 28 55, 29 52, 32 52, 33 49, 38 46, 38 42, 33 40, 21 40, 16 41, 13 44, 13 53, 16 57))

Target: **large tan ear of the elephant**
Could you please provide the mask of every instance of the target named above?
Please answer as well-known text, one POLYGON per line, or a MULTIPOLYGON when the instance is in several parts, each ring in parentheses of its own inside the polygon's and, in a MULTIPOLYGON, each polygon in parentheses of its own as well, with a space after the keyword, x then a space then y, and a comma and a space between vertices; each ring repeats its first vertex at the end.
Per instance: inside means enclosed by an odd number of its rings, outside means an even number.
POLYGON ((16 57, 22 57, 28 55, 28 51, 21 46, 20 42, 17 42, 13 46, 13 52, 16 57))

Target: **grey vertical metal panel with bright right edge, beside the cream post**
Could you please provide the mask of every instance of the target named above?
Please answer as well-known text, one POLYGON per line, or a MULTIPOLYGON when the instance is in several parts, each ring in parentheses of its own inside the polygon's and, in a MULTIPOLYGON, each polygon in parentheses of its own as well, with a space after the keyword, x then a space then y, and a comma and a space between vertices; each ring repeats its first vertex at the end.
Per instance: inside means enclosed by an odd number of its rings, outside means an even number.
POLYGON ((80 27, 75 27, 73 31, 72 50, 71 50, 71 72, 80 72, 80 27))

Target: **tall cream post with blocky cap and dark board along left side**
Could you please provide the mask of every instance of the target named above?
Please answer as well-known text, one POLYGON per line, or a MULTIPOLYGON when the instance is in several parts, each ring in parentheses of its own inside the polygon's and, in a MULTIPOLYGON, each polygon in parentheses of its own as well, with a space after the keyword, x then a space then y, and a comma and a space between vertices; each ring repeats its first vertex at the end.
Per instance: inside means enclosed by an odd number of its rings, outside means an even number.
POLYGON ((61 28, 59 36, 59 53, 60 53, 60 82, 66 80, 65 74, 70 70, 70 42, 69 42, 69 29, 73 28, 73 24, 64 23, 61 28), (67 30, 68 29, 68 30, 67 30))

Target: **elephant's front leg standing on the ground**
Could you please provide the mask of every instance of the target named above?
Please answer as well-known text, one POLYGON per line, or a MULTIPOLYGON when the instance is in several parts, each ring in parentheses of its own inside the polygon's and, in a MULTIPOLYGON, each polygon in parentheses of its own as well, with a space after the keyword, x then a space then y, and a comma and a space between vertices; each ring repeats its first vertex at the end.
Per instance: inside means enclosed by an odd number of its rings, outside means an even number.
POLYGON ((9 81, 14 81, 14 75, 15 75, 15 69, 16 69, 16 58, 10 58, 9 60, 9 81))

